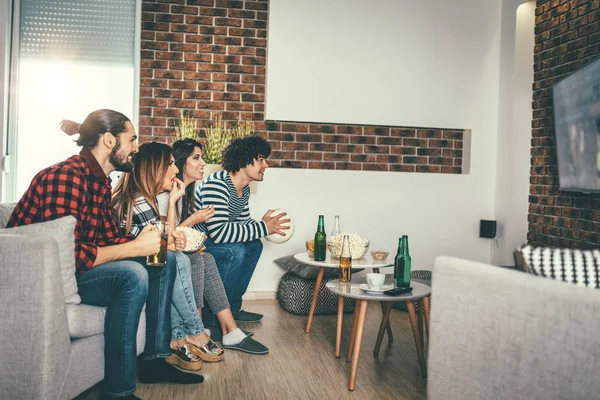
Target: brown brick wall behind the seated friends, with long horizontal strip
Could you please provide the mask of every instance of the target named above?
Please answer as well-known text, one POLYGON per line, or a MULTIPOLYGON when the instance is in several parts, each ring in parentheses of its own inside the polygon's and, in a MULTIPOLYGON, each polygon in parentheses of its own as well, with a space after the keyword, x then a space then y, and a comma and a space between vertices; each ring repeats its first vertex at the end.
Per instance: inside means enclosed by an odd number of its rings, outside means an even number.
MULTIPOLYGON (((251 119, 283 168, 460 174, 463 131, 265 121, 268 1, 142 1, 142 141, 168 141, 182 110, 207 126, 251 119)), ((344 121, 340 121, 344 122, 344 121)))

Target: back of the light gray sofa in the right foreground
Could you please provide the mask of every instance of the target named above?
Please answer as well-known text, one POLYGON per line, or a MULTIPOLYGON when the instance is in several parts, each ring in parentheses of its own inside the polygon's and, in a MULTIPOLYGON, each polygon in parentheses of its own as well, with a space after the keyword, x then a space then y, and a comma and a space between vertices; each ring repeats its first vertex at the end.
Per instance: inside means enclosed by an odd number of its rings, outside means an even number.
POLYGON ((428 398, 597 399, 599 316, 597 289, 438 257, 428 398))

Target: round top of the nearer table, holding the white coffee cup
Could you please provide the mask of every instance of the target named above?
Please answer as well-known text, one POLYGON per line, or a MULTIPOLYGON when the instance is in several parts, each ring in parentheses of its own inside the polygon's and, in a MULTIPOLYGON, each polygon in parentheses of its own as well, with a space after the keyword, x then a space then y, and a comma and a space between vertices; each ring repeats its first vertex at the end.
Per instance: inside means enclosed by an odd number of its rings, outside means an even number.
MULTIPOLYGON (((327 289, 337 294, 338 296, 349 297, 359 300, 377 300, 377 301, 404 301, 420 299, 431 294, 431 287, 424 285, 414 280, 410 281, 410 286, 413 288, 411 293, 401 294, 399 296, 388 296, 387 294, 371 294, 360 288, 361 284, 367 284, 367 278, 357 276, 351 279, 350 282, 341 283, 339 279, 327 282, 327 289)), ((384 285, 392 285, 393 279, 386 279, 384 285)))

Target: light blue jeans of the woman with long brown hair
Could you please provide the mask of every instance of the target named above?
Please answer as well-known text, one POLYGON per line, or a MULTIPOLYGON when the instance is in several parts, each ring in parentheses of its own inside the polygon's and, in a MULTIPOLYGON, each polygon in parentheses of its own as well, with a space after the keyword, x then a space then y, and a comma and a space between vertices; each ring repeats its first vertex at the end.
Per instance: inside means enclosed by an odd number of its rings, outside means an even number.
POLYGON ((177 274, 171 303, 171 339, 183 339, 185 335, 201 334, 204 325, 194 298, 190 259, 180 251, 173 254, 177 260, 177 274))

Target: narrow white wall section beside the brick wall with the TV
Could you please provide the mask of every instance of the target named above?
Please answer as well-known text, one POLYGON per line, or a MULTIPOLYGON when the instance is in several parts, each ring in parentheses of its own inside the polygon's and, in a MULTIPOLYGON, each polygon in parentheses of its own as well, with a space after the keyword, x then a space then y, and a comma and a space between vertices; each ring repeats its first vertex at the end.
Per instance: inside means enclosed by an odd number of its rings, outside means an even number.
POLYGON ((535 41, 535 2, 505 0, 500 76, 500 123, 493 261, 513 265, 513 251, 527 241, 535 41), (521 4, 523 3, 523 4, 521 4))

